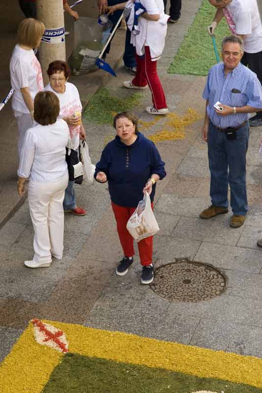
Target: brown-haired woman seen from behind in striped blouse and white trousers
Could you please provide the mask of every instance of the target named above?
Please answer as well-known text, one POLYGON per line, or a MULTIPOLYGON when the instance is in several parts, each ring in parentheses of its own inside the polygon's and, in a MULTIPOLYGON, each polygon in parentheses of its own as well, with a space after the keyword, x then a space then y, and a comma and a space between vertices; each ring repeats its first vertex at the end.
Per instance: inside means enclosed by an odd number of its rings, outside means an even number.
POLYGON ((18 194, 25 194, 29 178, 28 202, 34 227, 34 257, 25 261, 31 268, 49 267, 52 256, 63 255, 63 199, 68 184, 65 161, 69 128, 57 119, 59 100, 51 91, 40 92, 34 100, 34 119, 38 125, 29 128, 21 151, 18 169, 18 194))

